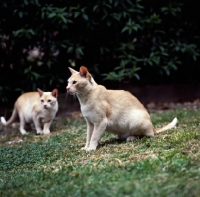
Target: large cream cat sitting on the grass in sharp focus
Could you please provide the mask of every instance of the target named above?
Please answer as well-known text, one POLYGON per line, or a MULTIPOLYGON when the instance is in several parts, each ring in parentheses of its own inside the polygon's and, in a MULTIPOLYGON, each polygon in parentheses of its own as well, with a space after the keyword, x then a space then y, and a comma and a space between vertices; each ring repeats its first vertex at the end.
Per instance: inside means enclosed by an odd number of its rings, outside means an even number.
POLYGON ((162 128, 154 129, 147 110, 131 93, 98 85, 84 66, 79 72, 72 68, 69 70, 72 75, 66 89, 78 97, 87 122, 86 145, 82 149, 95 150, 104 131, 129 141, 138 136, 153 137, 175 127, 177 118, 162 128))

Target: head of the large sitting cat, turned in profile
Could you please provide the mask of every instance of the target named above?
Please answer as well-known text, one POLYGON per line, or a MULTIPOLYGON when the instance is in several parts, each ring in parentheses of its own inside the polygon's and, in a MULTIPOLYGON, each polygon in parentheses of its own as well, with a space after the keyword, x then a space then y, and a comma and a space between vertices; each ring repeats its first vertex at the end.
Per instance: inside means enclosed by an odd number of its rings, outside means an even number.
POLYGON ((84 88, 87 86, 89 77, 91 75, 85 68, 82 68, 80 72, 77 72, 71 68, 70 71, 72 75, 68 79, 68 85, 66 87, 67 92, 71 95, 80 95, 81 91, 83 91, 84 88))

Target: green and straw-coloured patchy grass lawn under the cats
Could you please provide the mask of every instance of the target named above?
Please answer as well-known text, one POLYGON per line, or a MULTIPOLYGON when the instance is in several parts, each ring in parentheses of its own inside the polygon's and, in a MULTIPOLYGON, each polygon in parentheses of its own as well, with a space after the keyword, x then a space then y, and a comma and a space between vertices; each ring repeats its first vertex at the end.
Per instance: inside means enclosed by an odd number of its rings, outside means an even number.
POLYGON ((83 119, 54 122, 50 136, 0 138, 0 196, 197 197, 200 194, 200 110, 151 114, 155 138, 119 142, 104 133, 96 151, 85 144, 83 119), (11 143, 22 139, 22 143, 11 143))

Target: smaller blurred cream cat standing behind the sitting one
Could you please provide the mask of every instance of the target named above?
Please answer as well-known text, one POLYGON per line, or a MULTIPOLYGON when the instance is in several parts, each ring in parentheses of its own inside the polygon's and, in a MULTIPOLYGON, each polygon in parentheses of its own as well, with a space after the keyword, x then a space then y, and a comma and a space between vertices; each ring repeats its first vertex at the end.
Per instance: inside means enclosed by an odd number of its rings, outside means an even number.
POLYGON ((26 123, 33 122, 37 134, 49 134, 50 125, 58 111, 58 90, 52 92, 43 92, 39 88, 38 92, 27 92, 22 94, 15 102, 12 116, 6 122, 4 117, 1 117, 3 125, 7 126, 14 122, 19 116, 20 132, 22 135, 27 134, 24 129, 26 123), (43 130, 41 124, 44 124, 43 130))

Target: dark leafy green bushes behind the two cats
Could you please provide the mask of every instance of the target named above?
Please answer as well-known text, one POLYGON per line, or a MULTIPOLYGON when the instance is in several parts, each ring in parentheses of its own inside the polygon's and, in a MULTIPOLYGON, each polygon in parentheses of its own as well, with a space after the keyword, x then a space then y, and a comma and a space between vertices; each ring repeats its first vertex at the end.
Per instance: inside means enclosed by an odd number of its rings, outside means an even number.
POLYGON ((64 93, 69 66, 101 84, 199 83, 199 36, 197 1, 1 0, 0 103, 64 93))

